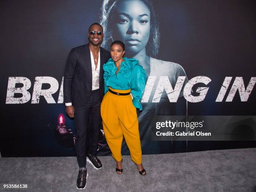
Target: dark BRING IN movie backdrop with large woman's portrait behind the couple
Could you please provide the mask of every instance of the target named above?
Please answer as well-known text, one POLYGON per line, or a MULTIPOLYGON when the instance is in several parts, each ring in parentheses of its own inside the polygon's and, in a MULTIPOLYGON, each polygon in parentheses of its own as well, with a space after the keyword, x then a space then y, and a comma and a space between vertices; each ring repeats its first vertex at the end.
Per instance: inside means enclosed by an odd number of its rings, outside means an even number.
MULTIPOLYGON (((146 70, 138 112, 143 154, 256 147, 255 1, 1 1, 2 157, 75 155, 64 67, 95 22, 104 28, 102 47, 124 41, 126 56, 146 70), (212 134, 223 127, 224 139, 152 137, 157 122, 166 128, 171 120, 203 121, 194 130, 212 134)), ((110 154, 103 131, 99 154, 110 154)))

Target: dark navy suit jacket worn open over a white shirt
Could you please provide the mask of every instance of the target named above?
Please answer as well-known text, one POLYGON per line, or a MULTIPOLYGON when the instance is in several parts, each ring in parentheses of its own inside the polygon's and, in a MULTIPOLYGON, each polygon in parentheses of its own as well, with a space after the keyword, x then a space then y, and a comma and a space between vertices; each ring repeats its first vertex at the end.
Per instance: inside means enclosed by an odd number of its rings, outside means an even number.
MULTIPOLYGON (((104 96, 103 64, 110 53, 100 47, 100 96, 104 96)), ((72 102, 74 107, 87 103, 92 93, 92 64, 89 43, 73 48, 67 58, 64 73, 64 103, 72 102)))

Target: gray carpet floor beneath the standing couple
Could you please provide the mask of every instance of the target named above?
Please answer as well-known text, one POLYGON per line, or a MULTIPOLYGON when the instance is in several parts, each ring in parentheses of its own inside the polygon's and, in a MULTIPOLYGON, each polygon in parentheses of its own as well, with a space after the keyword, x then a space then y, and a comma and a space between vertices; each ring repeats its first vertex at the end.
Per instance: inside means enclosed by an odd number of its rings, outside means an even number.
MULTIPOLYGON (((130 156, 123 156, 120 175, 112 157, 100 159, 100 170, 87 164, 86 191, 256 191, 256 148, 143 155, 146 176, 130 156)), ((77 174, 76 157, 0 158, 1 191, 3 184, 28 184, 20 191, 81 191, 77 174)))

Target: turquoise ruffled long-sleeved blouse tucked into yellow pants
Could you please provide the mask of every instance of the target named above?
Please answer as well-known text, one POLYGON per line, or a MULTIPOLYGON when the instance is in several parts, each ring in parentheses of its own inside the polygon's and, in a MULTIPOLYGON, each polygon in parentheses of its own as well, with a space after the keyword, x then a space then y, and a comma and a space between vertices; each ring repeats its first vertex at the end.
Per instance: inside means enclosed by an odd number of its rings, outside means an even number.
POLYGON ((112 58, 103 65, 104 70, 104 84, 105 93, 108 91, 108 87, 119 90, 127 90, 131 88, 133 95, 133 106, 142 110, 141 99, 146 86, 146 72, 142 66, 139 65, 137 59, 123 58, 118 74, 116 71, 118 68, 115 66, 115 62, 112 58))

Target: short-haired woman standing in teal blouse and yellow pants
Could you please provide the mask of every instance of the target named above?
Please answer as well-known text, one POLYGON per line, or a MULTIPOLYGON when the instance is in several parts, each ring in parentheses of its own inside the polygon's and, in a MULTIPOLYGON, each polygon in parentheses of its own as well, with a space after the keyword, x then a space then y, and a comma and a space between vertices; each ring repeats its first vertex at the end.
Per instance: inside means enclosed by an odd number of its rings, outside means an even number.
POLYGON ((139 173, 145 175, 136 108, 142 110, 140 101, 145 89, 146 73, 138 60, 123 58, 123 42, 114 41, 110 53, 111 58, 103 65, 105 96, 101 104, 101 116, 104 134, 116 161, 116 172, 123 172, 121 145, 124 136, 131 159, 136 163, 139 173))

